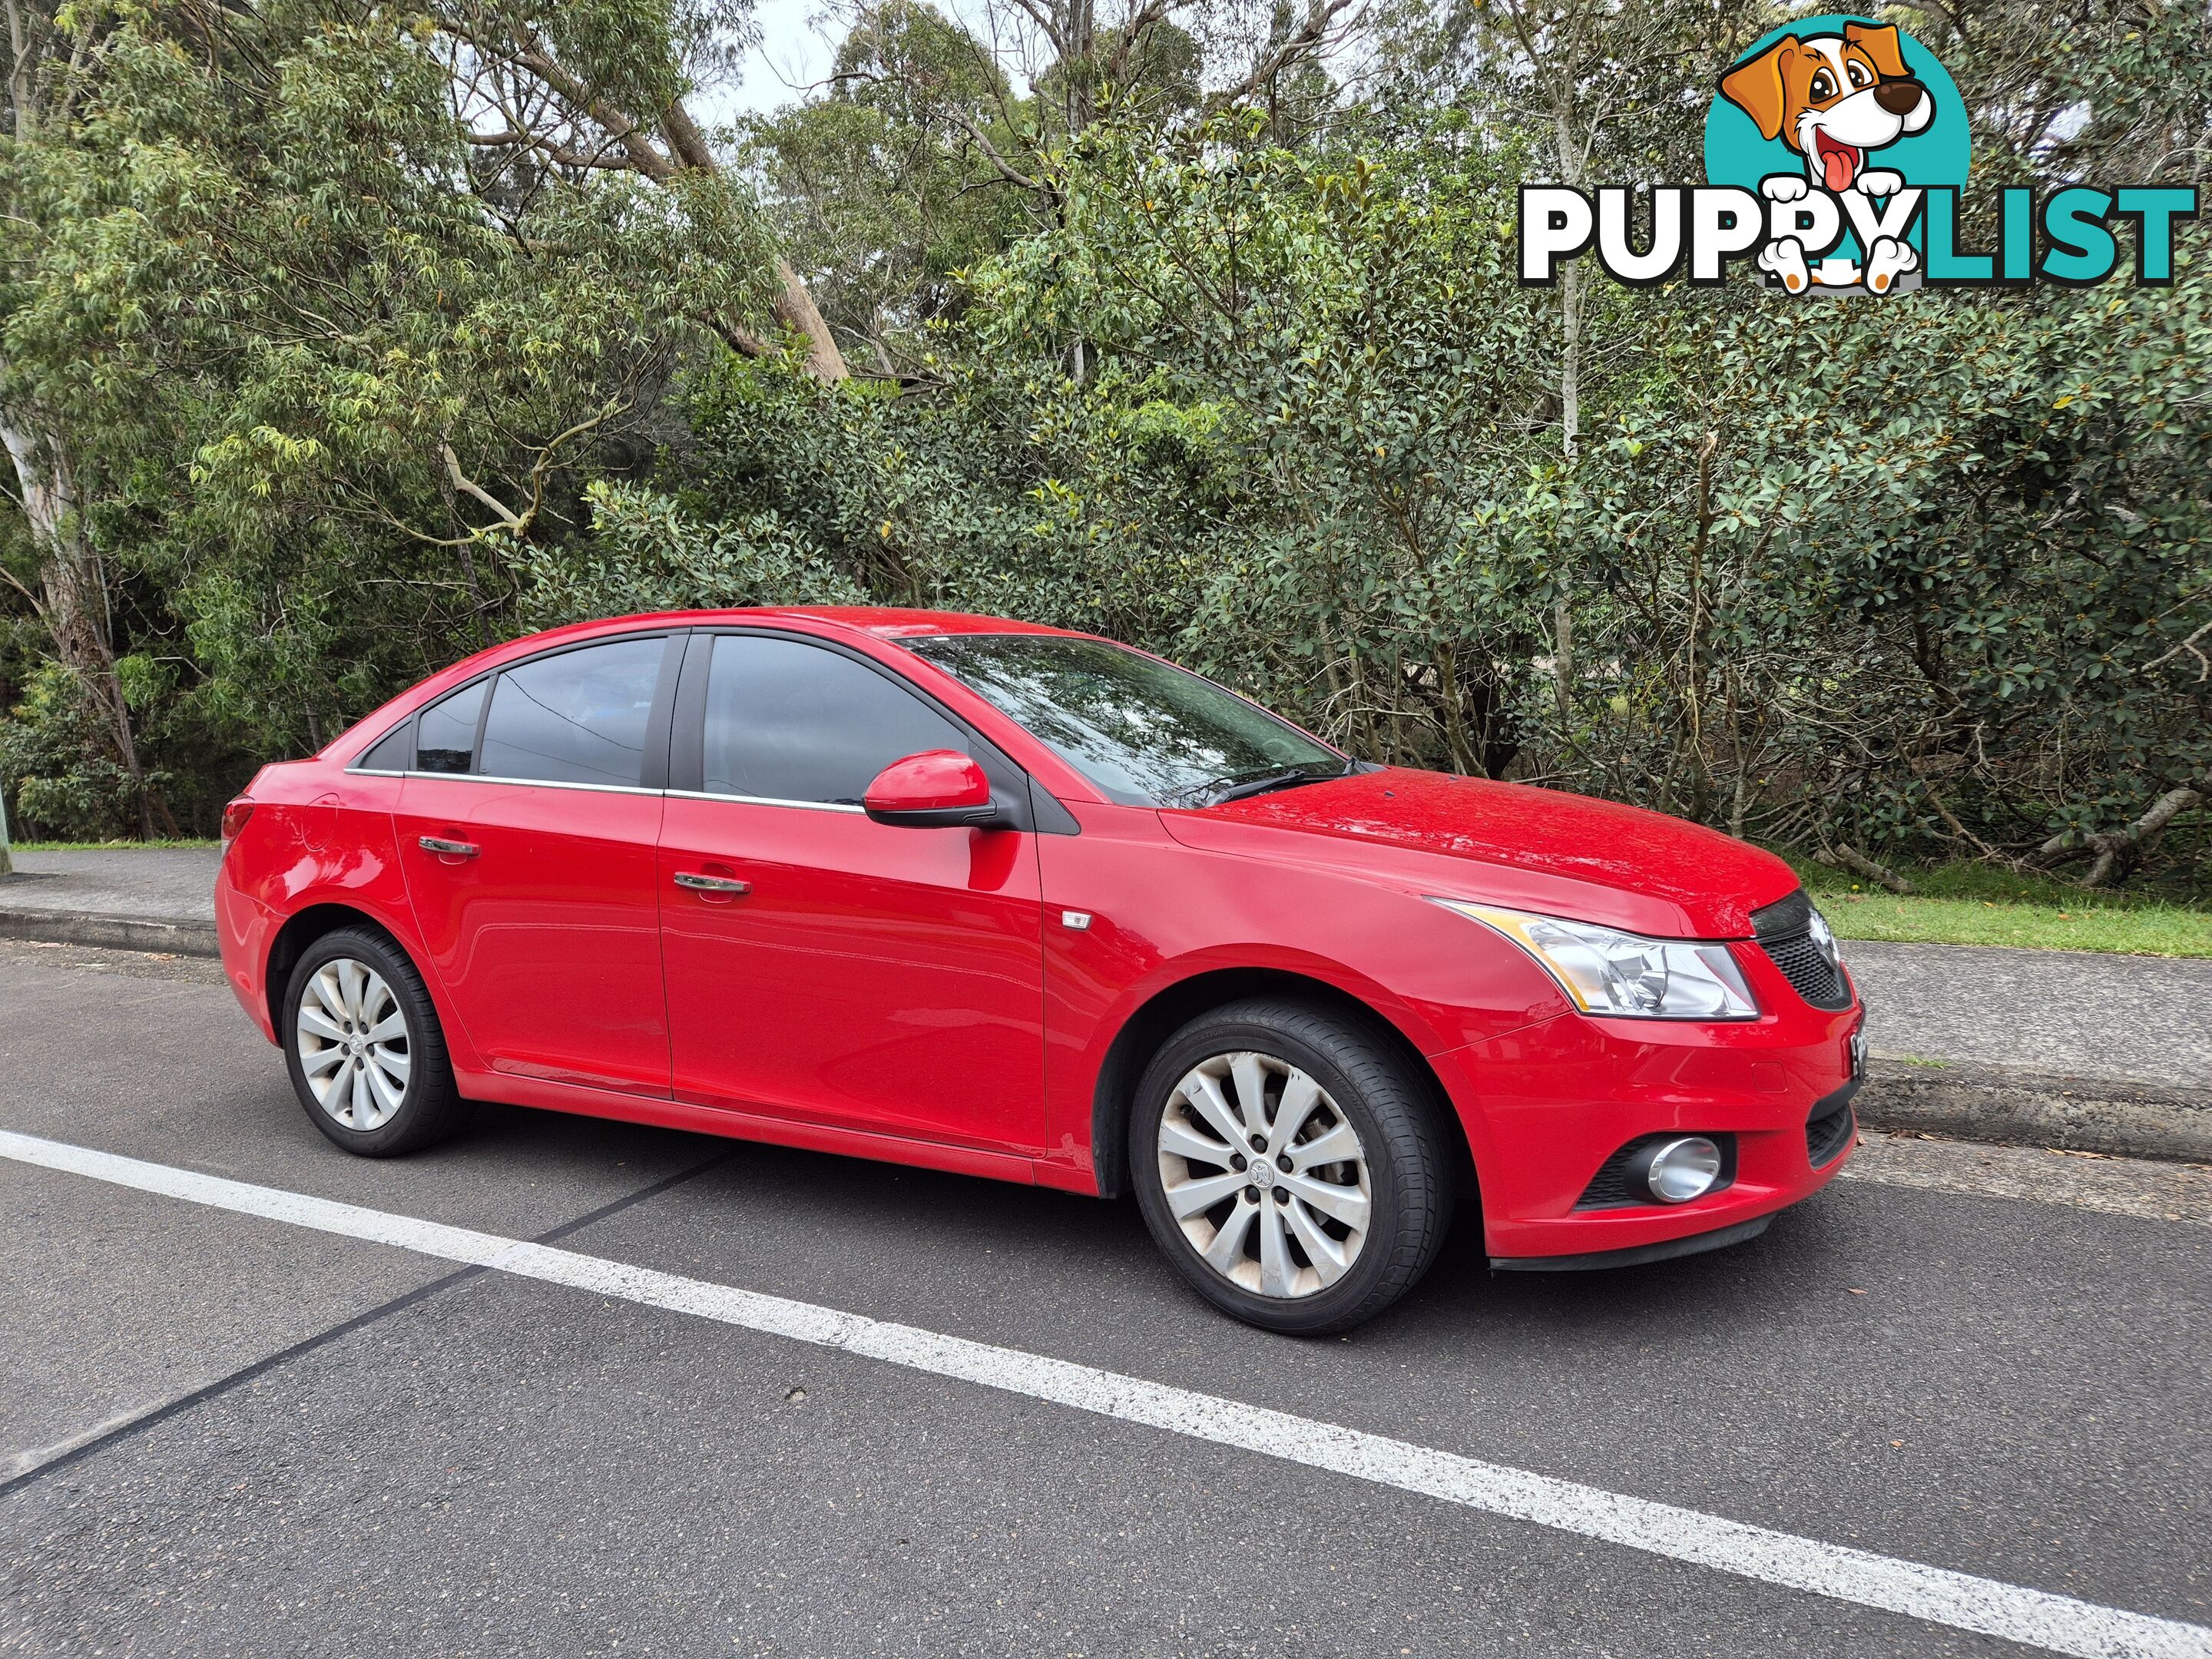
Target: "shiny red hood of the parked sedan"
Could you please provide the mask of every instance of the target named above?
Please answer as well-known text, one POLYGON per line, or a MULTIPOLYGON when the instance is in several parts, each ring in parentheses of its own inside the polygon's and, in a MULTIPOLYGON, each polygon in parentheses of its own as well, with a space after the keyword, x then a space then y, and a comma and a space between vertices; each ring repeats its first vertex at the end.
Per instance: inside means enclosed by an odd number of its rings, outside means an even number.
POLYGON ((1774 854, 1663 812, 1405 768, 1159 816, 1188 847, 1672 938, 1750 938, 1752 911, 1798 885, 1774 854))

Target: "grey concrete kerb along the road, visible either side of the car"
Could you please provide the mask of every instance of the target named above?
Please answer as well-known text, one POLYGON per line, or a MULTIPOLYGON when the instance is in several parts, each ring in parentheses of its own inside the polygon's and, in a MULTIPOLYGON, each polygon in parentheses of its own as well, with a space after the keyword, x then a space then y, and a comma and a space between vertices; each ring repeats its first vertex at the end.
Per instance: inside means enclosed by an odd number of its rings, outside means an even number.
MULTIPOLYGON (((0 938, 219 956, 215 922, 0 907, 0 938)), ((2212 1088, 1876 1055, 1858 1121, 1997 1146, 2212 1164, 2212 1088)))

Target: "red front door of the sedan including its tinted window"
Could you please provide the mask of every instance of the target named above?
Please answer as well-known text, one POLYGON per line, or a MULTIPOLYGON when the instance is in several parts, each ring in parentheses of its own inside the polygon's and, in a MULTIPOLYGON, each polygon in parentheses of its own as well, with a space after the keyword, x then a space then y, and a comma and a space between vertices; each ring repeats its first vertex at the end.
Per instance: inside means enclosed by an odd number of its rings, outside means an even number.
POLYGON ((860 812, 876 772, 942 748, 987 745, 860 657, 695 639, 659 869, 677 1099, 1040 1148, 1035 836, 860 812))

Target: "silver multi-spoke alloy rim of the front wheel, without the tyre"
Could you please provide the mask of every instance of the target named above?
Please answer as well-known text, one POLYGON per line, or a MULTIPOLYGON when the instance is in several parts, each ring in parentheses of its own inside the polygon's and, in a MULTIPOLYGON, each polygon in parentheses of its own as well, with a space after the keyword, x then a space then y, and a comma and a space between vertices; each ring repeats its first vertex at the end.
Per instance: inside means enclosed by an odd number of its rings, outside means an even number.
POLYGON ((1201 1060, 1159 1115, 1159 1183, 1190 1248, 1230 1283, 1296 1301, 1358 1261, 1374 1214, 1367 1148, 1287 1060, 1201 1060))

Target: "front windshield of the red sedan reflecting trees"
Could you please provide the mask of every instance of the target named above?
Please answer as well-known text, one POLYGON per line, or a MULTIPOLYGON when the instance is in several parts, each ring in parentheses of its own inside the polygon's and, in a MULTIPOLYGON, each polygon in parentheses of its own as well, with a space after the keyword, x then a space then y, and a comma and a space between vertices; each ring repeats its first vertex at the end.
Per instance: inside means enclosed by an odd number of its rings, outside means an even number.
POLYGON ((1124 805, 1201 807, 1352 770, 1259 703, 1104 639, 987 633, 900 644, 973 686, 1124 805))

